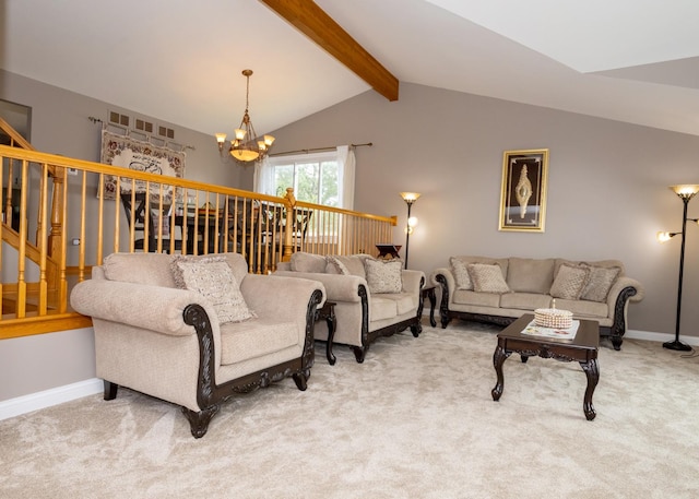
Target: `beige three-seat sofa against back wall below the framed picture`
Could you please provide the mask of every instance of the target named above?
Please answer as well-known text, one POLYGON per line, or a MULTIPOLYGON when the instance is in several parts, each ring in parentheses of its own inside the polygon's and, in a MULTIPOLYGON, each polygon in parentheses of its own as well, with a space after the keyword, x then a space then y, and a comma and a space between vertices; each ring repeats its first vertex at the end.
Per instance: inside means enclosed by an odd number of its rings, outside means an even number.
POLYGON ((625 275, 618 260, 451 257, 433 272, 441 288, 441 326, 452 318, 509 324, 537 308, 570 310, 574 319, 600 323, 615 349, 626 333, 629 301, 643 298, 643 286, 625 275), (494 266, 495 265, 495 266, 494 266))

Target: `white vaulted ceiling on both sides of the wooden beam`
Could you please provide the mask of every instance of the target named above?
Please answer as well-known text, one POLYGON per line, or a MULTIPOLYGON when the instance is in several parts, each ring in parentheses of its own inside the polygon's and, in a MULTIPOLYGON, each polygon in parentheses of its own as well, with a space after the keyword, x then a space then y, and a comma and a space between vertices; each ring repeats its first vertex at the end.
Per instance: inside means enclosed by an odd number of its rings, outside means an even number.
MULTIPOLYGON (((699 135, 696 0, 316 3, 401 82, 699 135)), ((259 133, 369 90, 256 0, 3 0, 0 27, 1 68, 205 133, 246 68, 259 133)))

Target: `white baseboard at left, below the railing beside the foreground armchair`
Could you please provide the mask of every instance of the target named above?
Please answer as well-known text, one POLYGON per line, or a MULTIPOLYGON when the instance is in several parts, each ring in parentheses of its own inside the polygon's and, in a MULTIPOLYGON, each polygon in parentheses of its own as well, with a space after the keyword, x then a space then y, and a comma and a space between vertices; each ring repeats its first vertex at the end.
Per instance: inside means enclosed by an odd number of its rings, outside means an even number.
POLYGON ((51 405, 62 404, 75 399, 81 399, 95 393, 102 393, 104 383, 98 378, 79 381, 76 383, 57 387, 43 392, 31 393, 0 402, 0 420, 21 414, 31 413, 51 405))

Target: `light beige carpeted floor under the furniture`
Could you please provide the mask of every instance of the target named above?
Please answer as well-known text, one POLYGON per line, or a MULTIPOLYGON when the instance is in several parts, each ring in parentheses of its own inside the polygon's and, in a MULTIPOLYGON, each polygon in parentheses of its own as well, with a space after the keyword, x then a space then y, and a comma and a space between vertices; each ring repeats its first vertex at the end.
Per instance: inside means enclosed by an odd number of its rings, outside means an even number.
POLYGON ((359 365, 324 344, 308 390, 230 400, 196 440, 179 408, 119 391, 0 421, 0 497, 696 498, 699 357, 603 342, 597 417, 578 364, 512 356, 498 328, 379 340, 359 365))

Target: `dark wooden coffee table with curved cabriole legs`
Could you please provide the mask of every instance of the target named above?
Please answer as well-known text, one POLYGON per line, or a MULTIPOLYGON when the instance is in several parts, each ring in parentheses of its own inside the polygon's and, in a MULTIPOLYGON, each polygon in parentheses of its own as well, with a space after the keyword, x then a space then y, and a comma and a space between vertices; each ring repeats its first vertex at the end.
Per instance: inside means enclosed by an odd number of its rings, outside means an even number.
POLYGON ((498 381, 490 392, 493 400, 500 400, 505 380, 502 377, 502 364, 512 353, 520 354, 522 363, 529 357, 554 358, 565 363, 578 361, 588 377, 588 388, 582 402, 582 409, 588 420, 594 419, 596 413, 592 405, 592 394, 600 381, 600 367, 597 365, 597 351, 600 349, 600 324, 596 321, 581 320, 576 337, 572 340, 558 340, 547 336, 522 334, 522 330, 534 320, 534 316, 525 313, 508 325, 498 334, 498 346, 493 354, 493 365, 498 381))

